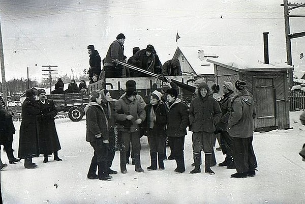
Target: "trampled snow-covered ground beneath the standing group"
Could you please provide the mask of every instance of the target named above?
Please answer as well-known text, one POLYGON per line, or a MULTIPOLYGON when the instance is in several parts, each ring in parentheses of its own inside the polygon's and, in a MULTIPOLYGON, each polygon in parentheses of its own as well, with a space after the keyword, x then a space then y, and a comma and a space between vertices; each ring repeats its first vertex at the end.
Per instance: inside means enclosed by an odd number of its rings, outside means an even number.
MULTIPOLYGON (((86 178, 93 149, 85 141, 85 120, 71 122, 56 119, 62 144, 61 162, 35 158, 37 169, 24 169, 23 161, 1 171, 4 203, 305 203, 305 162, 298 152, 305 142, 305 126, 298 120, 300 112, 291 112, 290 130, 273 130, 254 134, 254 151, 258 161, 257 176, 230 178, 234 169, 215 166, 215 175, 190 174, 192 141, 188 132, 185 143, 187 171, 174 173, 175 161, 166 160, 165 170, 137 173, 127 165, 128 173, 115 174, 110 182, 86 178)), ((14 122, 19 130, 21 122, 14 122)), ((17 131, 18 132, 18 131, 17 131)), ((18 150, 18 133, 13 148, 18 150)), ((147 138, 142 137, 141 160, 150 164, 147 138)), ((217 144, 218 146, 218 144, 217 144)), ((2 151, 2 160, 8 163, 2 151)), ((224 156, 216 151, 217 162, 224 156)), ((112 169, 119 170, 119 153, 112 169)))

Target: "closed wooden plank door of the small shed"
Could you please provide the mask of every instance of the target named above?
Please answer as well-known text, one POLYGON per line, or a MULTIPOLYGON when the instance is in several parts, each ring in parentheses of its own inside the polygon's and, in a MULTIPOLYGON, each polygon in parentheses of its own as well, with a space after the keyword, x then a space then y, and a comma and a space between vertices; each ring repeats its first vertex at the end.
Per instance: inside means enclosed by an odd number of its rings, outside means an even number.
POLYGON ((255 128, 275 127, 276 108, 273 78, 254 78, 255 128))

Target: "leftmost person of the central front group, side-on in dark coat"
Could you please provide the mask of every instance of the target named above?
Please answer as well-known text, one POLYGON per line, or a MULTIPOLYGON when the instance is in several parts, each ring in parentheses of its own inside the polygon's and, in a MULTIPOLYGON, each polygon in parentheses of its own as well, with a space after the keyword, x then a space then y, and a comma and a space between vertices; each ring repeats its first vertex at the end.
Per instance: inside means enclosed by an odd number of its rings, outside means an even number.
POLYGON ((102 96, 98 92, 91 92, 90 102, 85 107, 86 113, 86 141, 94 149, 94 156, 87 174, 88 179, 109 181, 112 177, 108 174, 107 153, 109 143, 108 120, 103 107, 100 105, 102 96), (98 175, 96 174, 99 167, 98 175))

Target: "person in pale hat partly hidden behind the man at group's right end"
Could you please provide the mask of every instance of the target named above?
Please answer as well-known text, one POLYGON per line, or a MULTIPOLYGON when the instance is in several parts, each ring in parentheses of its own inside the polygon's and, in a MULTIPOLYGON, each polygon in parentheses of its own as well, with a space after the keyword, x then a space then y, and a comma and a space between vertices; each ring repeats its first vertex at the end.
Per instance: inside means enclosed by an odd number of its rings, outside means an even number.
POLYGON ((228 120, 230 118, 230 104, 234 97, 234 85, 230 81, 224 81, 222 86, 224 93, 223 99, 220 101, 221 119, 216 125, 215 134, 220 133, 220 145, 225 161, 219 163, 219 166, 227 166, 227 168, 235 168, 233 163, 233 139, 228 133, 228 120))

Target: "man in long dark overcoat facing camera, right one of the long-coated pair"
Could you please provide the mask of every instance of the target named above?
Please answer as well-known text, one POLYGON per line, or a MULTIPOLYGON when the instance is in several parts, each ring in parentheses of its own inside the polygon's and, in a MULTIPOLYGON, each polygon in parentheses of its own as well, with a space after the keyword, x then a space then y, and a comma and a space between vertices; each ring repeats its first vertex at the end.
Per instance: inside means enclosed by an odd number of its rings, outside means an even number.
POLYGON ((58 157, 57 151, 60 147, 58 135, 56 132, 54 117, 57 114, 57 109, 53 100, 46 99, 46 92, 43 89, 37 91, 39 98, 39 117, 38 117, 38 137, 39 137, 39 153, 43 154, 43 163, 48 162, 48 155, 54 154, 55 161, 62 161, 58 157))

